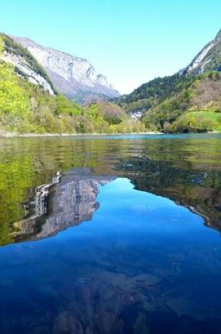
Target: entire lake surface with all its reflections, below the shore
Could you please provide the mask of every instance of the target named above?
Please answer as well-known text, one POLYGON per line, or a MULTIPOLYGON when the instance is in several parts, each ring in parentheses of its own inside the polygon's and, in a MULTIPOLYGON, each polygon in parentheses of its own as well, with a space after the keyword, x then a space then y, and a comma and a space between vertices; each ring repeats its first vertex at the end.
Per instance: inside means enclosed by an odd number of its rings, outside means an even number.
POLYGON ((221 135, 0 153, 1 334, 221 333, 221 135))

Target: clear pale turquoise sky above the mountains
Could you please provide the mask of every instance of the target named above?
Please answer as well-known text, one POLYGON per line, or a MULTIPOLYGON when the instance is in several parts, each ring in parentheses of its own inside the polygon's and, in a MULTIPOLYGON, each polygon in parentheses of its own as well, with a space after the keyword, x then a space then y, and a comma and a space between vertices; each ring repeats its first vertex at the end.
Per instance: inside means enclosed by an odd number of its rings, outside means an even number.
POLYGON ((185 67, 220 13, 220 0, 11 0, 0 30, 87 58, 124 93, 185 67))

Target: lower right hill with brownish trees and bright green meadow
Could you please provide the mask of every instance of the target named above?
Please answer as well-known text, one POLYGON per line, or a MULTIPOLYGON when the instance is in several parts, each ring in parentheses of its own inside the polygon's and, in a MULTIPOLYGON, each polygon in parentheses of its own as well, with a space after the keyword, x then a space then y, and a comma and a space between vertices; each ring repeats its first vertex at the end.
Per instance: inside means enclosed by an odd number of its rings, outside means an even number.
POLYGON ((221 73, 192 77, 189 86, 147 110, 143 122, 164 132, 221 130, 221 73))

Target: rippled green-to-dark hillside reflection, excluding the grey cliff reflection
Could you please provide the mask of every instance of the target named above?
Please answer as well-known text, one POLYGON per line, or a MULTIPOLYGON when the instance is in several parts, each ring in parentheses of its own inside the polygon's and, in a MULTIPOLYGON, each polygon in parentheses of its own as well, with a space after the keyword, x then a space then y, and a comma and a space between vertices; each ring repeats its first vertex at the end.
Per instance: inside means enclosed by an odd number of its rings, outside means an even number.
POLYGON ((34 198, 36 188, 73 168, 89 168, 95 177, 128 177, 142 191, 199 212, 220 231, 220 140, 218 134, 0 139, 0 245, 15 241, 17 223, 30 209, 23 203, 34 198))

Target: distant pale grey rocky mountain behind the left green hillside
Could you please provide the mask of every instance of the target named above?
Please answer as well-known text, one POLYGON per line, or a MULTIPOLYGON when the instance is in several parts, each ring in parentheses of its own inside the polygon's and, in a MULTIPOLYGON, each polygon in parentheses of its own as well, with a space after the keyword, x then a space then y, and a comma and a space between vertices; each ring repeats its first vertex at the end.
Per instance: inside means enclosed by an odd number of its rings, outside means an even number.
POLYGON ((86 103, 95 98, 119 96, 119 92, 108 82, 107 77, 95 72, 88 60, 43 47, 31 39, 12 38, 32 53, 46 70, 56 89, 70 100, 86 103))

